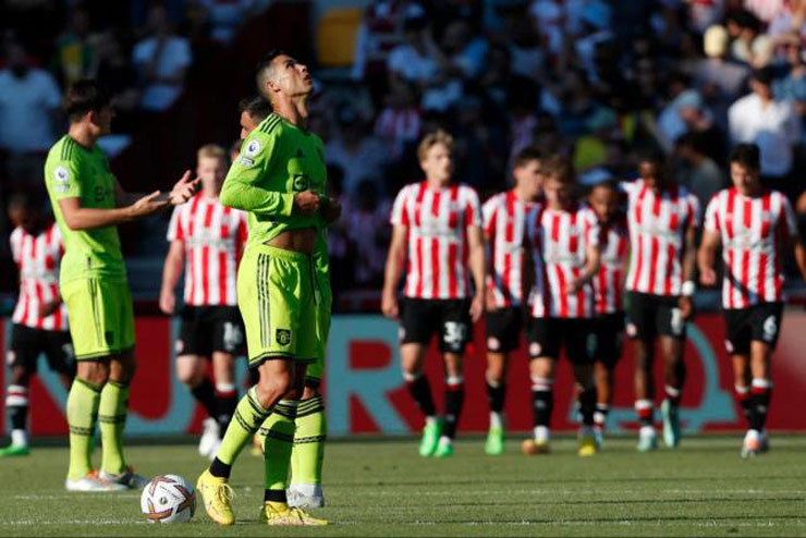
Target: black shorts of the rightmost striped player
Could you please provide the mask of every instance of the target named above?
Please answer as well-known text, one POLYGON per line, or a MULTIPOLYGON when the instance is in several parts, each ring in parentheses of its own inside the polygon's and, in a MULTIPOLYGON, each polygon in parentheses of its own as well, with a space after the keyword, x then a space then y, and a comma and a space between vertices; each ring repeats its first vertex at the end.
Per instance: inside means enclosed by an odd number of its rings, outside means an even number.
POLYGON ((746 355, 754 340, 776 349, 781 334, 783 303, 761 303, 748 308, 728 309, 723 314, 728 353, 746 355))

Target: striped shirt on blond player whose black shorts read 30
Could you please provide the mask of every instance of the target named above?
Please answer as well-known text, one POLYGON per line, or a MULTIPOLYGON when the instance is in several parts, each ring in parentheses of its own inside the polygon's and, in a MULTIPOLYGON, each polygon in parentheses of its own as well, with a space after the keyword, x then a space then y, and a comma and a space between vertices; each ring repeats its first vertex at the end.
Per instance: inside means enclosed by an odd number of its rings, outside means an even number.
POLYGON ((390 222, 408 231, 408 267, 403 295, 465 298, 471 294, 467 228, 481 227, 476 191, 454 184, 431 188, 412 183, 398 193, 390 222))

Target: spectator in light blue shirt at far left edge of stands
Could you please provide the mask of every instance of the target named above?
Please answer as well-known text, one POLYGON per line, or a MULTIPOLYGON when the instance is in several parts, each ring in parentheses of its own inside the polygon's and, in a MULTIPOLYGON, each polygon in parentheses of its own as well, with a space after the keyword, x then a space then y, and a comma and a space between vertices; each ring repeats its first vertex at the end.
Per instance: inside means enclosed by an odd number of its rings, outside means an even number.
POLYGON ((9 154, 8 178, 42 181, 61 95, 50 73, 26 62, 22 45, 11 42, 7 50, 8 68, 0 70, 0 149, 9 154))

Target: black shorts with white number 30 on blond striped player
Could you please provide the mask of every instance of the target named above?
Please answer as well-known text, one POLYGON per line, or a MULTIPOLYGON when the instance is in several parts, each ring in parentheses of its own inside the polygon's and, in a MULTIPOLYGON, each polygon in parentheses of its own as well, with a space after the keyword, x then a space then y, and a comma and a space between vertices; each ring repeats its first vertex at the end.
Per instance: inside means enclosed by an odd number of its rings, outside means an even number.
POLYGON ((469 308, 467 299, 402 299, 401 344, 428 345, 437 333, 442 353, 464 353, 473 339, 469 308))

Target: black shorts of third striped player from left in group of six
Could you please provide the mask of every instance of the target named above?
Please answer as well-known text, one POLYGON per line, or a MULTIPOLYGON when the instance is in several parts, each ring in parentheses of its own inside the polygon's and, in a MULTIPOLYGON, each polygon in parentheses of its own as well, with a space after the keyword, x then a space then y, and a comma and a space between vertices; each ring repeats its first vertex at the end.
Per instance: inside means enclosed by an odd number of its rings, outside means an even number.
POLYGON ((529 358, 560 358, 560 350, 574 364, 594 360, 591 319, 530 318, 529 358))

